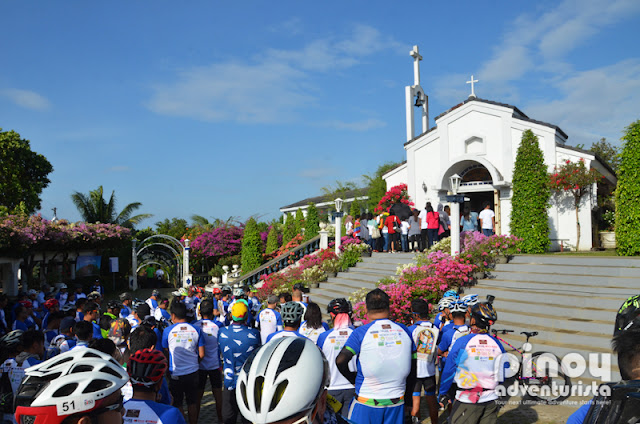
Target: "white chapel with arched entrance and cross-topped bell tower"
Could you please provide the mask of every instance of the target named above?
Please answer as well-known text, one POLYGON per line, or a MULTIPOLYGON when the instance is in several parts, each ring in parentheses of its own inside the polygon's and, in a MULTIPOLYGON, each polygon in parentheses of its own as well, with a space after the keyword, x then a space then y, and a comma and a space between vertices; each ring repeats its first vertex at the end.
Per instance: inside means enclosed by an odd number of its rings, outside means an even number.
MULTIPOLYGON (((522 133, 531 129, 538 137, 549 171, 566 160, 584 159, 587 167, 604 175, 604 181, 615 186, 615 173, 594 154, 566 145, 568 135, 556 125, 528 117, 515 106, 481 99, 475 95, 471 77, 471 94, 462 103, 435 118, 428 128, 428 97, 420 85, 420 60, 415 46, 410 52, 414 60, 414 84, 406 87, 407 137, 404 143, 406 162, 383 176, 387 189, 405 183, 409 195, 422 209, 426 202, 434 208, 446 204, 450 191, 449 177, 462 177, 459 193, 468 198, 465 205, 479 212, 485 201, 493 204, 496 232, 509 234, 512 173, 522 133), (415 111, 419 111, 416 116, 415 111), (421 132, 416 135, 415 121, 421 132)), ((580 207, 581 235, 578 250, 589 250, 597 244, 595 219, 596 187, 585 196, 580 207)), ((548 211, 551 227, 551 249, 576 249, 576 218, 571 199, 552 196, 548 211)))

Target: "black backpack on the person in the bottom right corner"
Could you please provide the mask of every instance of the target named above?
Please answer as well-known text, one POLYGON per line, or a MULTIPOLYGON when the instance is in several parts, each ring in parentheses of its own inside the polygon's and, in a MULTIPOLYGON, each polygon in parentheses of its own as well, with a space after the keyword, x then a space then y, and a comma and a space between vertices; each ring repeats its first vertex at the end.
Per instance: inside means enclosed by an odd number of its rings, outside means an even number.
POLYGON ((591 407, 584 419, 586 424, 635 423, 640 417, 640 381, 620 381, 605 383, 611 396, 598 395, 593 398, 591 407))

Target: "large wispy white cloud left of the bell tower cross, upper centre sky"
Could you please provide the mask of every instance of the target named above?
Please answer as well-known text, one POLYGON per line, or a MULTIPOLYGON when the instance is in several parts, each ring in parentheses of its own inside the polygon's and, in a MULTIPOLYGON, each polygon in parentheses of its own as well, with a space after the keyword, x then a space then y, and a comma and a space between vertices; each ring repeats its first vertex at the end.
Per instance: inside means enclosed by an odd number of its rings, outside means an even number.
POLYGON ((375 28, 356 25, 345 39, 319 39, 292 50, 269 49, 249 63, 184 69, 175 81, 156 84, 146 106, 159 114, 203 121, 292 121, 315 103, 317 73, 353 67, 397 45, 375 28))

